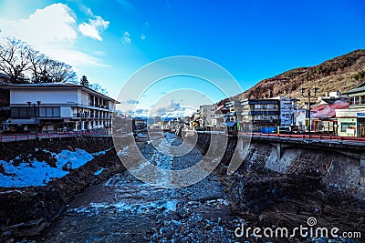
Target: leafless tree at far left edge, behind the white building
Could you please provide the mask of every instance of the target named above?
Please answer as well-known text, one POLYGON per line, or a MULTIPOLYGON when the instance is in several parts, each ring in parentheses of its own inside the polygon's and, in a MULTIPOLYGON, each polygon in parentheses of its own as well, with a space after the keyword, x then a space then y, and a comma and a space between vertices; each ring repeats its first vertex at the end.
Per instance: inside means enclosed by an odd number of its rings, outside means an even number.
POLYGON ((6 38, 0 45, 0 71, 10 76, 12 82, 26 82, 25 72, 30 68, 29 48, 25 42, 15 38, 6 38))

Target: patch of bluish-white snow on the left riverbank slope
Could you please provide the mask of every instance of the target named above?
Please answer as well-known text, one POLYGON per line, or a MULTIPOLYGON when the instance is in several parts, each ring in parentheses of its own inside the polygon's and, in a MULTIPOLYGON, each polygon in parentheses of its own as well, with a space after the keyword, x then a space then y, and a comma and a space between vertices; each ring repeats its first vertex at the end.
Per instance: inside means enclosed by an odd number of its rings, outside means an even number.
MULTIPOLYGON (((45 150, 45 152, 48 152, 45 150)), ((83 149, 75 152, 62 150, 60 153, 50 153, 57 159, 56 167, 50 167, 46 161, 37 161, 36 158, 15 166, 16 157, 10 161, 0 160, 0 167, 4 167, 5 173, 0 173, 0 187, 30 187, 45 186, 53 178, 64 177, 68 171, 62 167, 75 169, 92 160, 93 155, 83 149)))

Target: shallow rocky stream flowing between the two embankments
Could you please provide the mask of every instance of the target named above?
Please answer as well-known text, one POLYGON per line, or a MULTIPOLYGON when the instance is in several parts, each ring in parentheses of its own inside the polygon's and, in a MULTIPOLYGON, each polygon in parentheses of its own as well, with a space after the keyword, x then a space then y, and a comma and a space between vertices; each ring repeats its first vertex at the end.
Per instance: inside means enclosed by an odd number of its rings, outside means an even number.
MULTIPOLYGON (((146 138, 148 139, 148 138, 146 138)), ((179 145, 182 140, 166 134, 179 145)), ((160 148, 166 147, 161 141, 160 148)), ((158 167, 181 169, 203 156, 193 149, 183 157, 163 154, 147 140, 142 154, 158 167)), ((170 180, 162 177, 162 182, 170 180)), ((183 188, 152 187, 125 171, 89 187, 39 237, 42 242, 235 242, 224 186, 214 175, 183 188)), ((234 223, 234 224, 233 224, 234 223)))

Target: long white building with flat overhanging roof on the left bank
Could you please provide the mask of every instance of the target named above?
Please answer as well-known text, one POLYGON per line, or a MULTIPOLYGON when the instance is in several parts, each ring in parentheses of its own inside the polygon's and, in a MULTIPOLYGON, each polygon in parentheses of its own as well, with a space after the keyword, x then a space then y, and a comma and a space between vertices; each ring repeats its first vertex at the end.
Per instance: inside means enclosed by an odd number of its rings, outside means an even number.
POLYGON ((40 131, 111 127, 118 101, 87 86, 44 83, 3 86, 10 90, 11 123, 40 131), (39 104, 38 104, 39 103, 39 104))

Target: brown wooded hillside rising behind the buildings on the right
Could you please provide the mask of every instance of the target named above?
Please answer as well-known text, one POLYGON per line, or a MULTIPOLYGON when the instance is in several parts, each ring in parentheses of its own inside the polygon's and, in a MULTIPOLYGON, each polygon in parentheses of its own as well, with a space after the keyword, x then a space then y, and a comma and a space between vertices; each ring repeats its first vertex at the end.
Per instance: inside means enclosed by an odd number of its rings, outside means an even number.
MULTIPOLYGON (((283 74, 266 78, 244 93, 232 99, 269 98, 288 96, 302 98, 300 87, 317 86, 318 96, 325 92, 338 91, 342 93, 358 86, 365 81, 365 50, 360 49, 347 55, 338 56, 318 66, 298 67, 283 74)), ((222 100, 223 104, 228 99, 222 100)))

